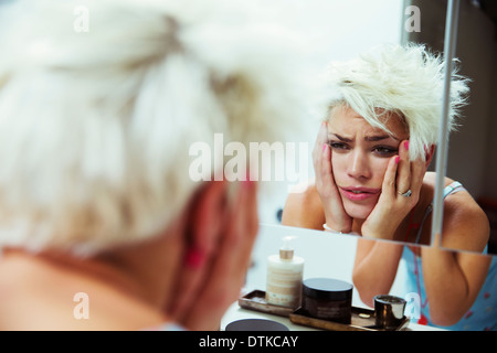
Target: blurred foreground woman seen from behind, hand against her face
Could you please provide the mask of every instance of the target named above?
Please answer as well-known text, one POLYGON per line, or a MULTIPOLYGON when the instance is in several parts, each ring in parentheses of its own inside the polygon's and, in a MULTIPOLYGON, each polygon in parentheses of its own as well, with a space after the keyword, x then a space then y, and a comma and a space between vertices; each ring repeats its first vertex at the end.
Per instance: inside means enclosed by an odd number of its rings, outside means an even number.
POLYGON ((257 186, 194 180, 190 149, 271 142, 300 109, 282 32, 235 8, 0 8, 0 330, 219 329, 257 186))

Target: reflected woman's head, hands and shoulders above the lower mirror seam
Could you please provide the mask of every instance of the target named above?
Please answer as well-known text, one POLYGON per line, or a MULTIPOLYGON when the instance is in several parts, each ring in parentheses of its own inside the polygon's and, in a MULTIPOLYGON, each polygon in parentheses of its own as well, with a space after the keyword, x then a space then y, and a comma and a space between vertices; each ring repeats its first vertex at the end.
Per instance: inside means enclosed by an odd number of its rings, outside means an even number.
MULTIPOLYGON (((424 46, 388 45, 331 66, 330 104, 313 152, 315 182, 290 193, 285 225, 429 244, 435 173, 427 172, 441 118, 443 61, 424 46)), ((466 81, 452 84, 451 126, 466 81)), ((446 178, 442 246, 482 253, 488 220, 446 178)))

